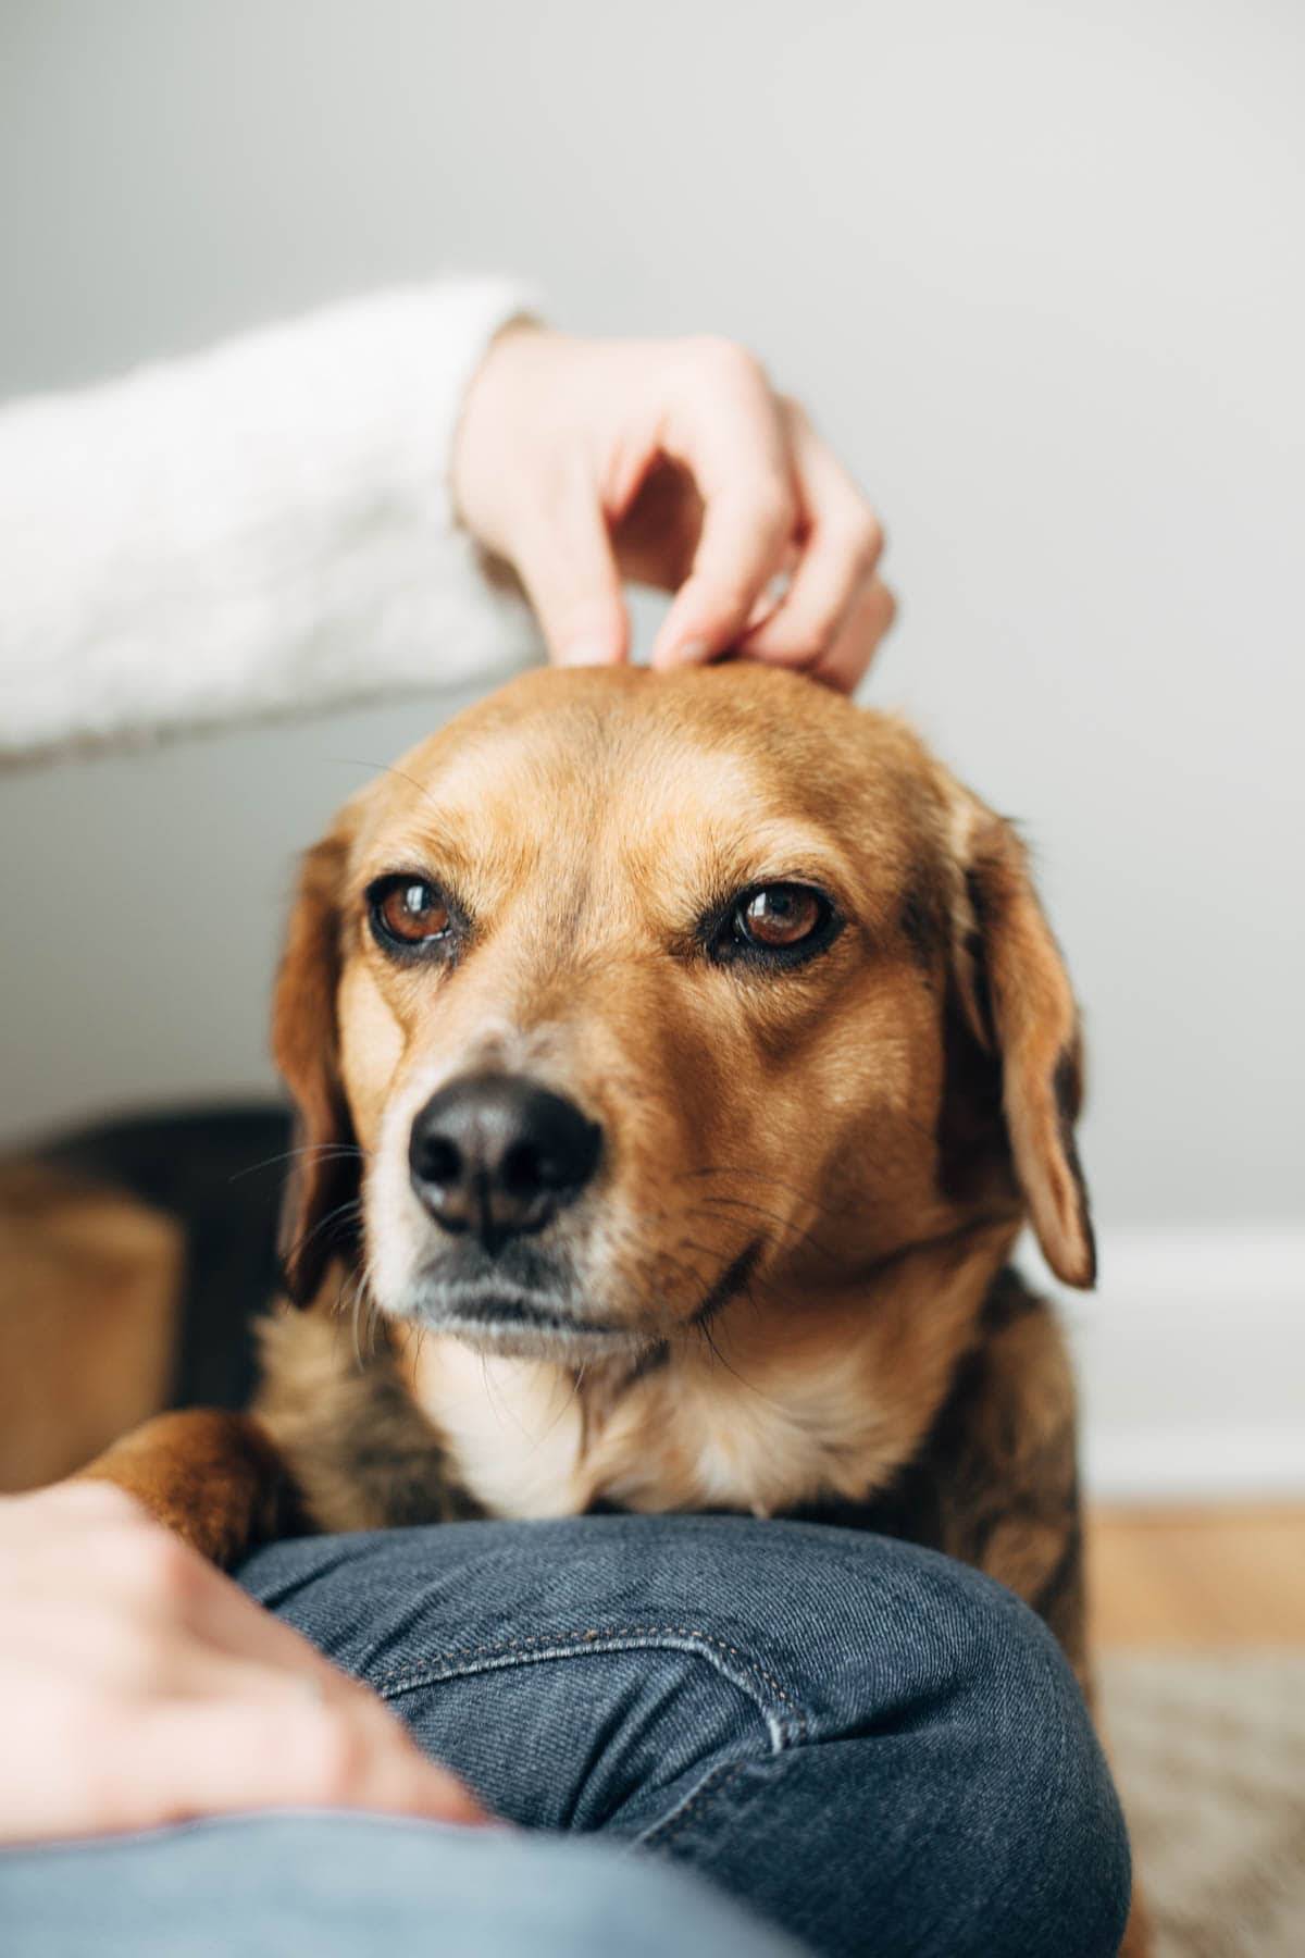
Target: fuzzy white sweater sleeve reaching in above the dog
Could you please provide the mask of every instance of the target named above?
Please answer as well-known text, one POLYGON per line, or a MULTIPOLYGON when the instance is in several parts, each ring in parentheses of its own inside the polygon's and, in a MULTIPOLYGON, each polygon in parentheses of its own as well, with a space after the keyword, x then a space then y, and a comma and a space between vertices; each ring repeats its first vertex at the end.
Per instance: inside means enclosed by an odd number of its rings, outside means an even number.
POLYGON ((0 758, 538 658, 454 523, 497 280, 389 292, 0 407, 0 758))

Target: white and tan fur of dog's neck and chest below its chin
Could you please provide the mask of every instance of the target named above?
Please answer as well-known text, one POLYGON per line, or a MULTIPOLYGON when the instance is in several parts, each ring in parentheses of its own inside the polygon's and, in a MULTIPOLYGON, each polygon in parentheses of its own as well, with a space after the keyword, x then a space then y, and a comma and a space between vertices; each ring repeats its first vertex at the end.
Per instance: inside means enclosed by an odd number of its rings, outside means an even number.
POLYGON ((863 1502, 918 1449, 970 1343, 994 1247, 912 1257, 878 1292, 644 1367, 487 1357, 331 1312, 274 1320, 260 1414, 325 1529, 595 1508, 777 1515, 863 1502))

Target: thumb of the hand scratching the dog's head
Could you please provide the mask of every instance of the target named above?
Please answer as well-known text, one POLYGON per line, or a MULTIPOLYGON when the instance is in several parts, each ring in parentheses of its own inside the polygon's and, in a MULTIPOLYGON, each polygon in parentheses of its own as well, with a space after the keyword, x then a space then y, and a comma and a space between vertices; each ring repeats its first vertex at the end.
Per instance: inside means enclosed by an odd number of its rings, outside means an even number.
POLYGON ((518 536, 513 564, 558 666, 616 666, 628 658, 630 619, 593 493, 573 491, 540 511, 518 536))

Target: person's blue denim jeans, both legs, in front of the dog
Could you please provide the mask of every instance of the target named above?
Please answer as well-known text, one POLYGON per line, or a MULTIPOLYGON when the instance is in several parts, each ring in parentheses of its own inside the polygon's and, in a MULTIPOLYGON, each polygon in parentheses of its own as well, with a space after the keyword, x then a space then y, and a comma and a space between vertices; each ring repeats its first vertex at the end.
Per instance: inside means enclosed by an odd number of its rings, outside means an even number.
MULTIPOLYGON (((225 1929, 233 1895, 241 1913, 280 1911, 268 1952, 292 1948, 288 1889, 301 1903, 297 1942, 313 1952, 787 1948, 657 1864, 697 1872, 832 1958, 1107 1958, 1119 1942, 1127 1839, 1074 1678, 1015 1598, 929 1551, 808 1523, 610 1515, 307 1537, 260 1551, 241 1576, 368 1680, 489 1807, 530 1831, 599 1841, 577 1852, 548 1835, 470 1842, 346 1819, 207 1823, 135 1846, 12 1854, 0 1860, 0 1923, 16 1878, 20 1909, 57 1921, 94 1858, 100 1935, 84 1948, 104 1952, 104 1897, 131 1888, 133 1856, 180 1866, 196 1842, 245 1831, 227 1854, 225 1929), (364 1878, 378 1841, 399 1839, 438 1850, 395 1868, 382 1936, 364 1878), (57 1884, 23 1878, 41 1858, 49 1872, 51 1854, 57 1884), (440 1872, 458 1858, 464 1878, 450 1886, 440 1872), (317 1868, 329 1891, 315 1901, 317 1868), (399 1935, 403 1911, 411 1931, 399 1935), (716 1911, 710 1925, 702 1911, 716 1911)), ((170 1893, 182 1913, 194 1899, 184 1884, 170 1893)), ((168 1935, 157 1905, 139 1923, 123 1950, 202 1948, 178 1923, 168 1935)))

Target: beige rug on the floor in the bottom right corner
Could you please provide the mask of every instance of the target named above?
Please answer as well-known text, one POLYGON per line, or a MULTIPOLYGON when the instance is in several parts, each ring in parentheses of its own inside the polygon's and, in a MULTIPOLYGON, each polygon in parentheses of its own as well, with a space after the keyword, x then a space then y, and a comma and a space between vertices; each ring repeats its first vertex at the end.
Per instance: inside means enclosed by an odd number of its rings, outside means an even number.
POLYGON ((1113 1655, 1100 1678, 1158 1958, 1305 1958, 1305 1655, 1113 1655))

